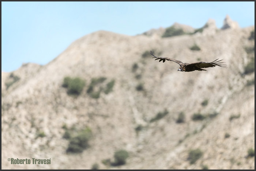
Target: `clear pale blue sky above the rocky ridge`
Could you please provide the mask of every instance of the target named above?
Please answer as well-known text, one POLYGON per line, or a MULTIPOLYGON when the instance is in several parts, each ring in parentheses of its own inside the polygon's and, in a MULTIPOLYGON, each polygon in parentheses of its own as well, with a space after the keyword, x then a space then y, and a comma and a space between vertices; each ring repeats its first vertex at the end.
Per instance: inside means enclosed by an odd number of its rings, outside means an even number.
POLYGON ((209 18, 222 27, 229 15, 254 25, 255 2, 1 2, 2 71, 22 63, 45 65, 72 42, 98 30, 141 34, 174 22, 194 28, 209 18))

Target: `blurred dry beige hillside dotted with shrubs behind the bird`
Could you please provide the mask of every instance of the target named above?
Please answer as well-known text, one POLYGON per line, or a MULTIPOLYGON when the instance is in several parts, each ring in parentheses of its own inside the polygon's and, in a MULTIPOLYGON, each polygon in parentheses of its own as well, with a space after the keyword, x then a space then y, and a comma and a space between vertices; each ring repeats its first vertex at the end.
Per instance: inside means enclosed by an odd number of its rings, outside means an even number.
POLYGON ((217 29, 211 19, 200 31, 165 38, 163 28, 136 36, 97 31, 47 65, 2 73, 2 169, 254 169, 254 26, 232 22, 227 17, 217 29), (190 49, 195 44, 200 50, 190 49), (150 50, 186 63, 219 58, 228 68, 178 72, 177 63, 154 61, 150 50), (80 95, 67 93, 65 77, 84 80, 80 95), (89 147, 67 153, 65 132, 74 137, 84 129, 91 130, 89 147), (197 148, 202 156, 191 164, 189 152, 197 148), (129 157, 112 166, 119 149, 129 157))

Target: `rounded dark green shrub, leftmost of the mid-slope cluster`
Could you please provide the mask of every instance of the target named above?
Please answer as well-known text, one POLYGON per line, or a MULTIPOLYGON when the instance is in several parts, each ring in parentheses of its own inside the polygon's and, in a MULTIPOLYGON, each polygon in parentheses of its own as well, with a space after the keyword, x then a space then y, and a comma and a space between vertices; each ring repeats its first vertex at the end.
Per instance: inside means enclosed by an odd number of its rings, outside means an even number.
POLYGON ((82 92, 84 85, 85 81, 79 77, 65 77, 62 84, 63 87, 68 89, 67 93, 69 95, 79 95, 82 92))

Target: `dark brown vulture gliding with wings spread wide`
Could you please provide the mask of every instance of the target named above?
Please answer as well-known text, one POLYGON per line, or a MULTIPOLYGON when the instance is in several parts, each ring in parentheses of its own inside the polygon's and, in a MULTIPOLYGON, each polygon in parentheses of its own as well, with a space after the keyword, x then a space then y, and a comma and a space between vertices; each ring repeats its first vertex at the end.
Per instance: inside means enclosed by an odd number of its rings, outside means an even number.
POLYGON ((212 62, 194 62, 194 63, 183 63, 181 61, 175 60, 175 59, 171 59, 171 58, 164 58, 164 57, 156 57, 152 51, 150 51, 150 54, 153 56, 152 58, 157 58, 155 60, 159 60, 159 62, 163 61, 165 62, 165 60, 167 61, 173 61, 176 62, 180 65, 180 67, 178 68, 178 71, 185 71, 185 72, 191 72, 191 71, 207 71, 204 70, 202 68, 208 68, 208 67, 215 67, 215 66, 220 66, 223 68, 227 68, 225 64, 225 62, 220 62, 222 60, 216 59, 215 61, 212 62), (219 60, 219 61, 218 61, 219 60))

